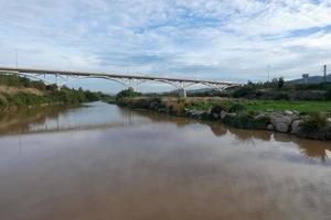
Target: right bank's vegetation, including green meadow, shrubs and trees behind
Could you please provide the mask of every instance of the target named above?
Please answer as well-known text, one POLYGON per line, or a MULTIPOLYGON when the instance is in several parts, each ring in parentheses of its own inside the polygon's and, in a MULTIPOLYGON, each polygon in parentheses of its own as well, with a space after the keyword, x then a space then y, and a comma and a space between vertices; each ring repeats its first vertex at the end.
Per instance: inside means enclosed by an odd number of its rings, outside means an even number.
POLYGON ((141 97, 128 89, 118 94, 117 103, 220 121, 239 129, 267 129, 308 139, 331 140, 328 119, 331 117, 331 84, 291 85, 281 77, 271 82, 248 82, 233 89, 227 98, 141 97))

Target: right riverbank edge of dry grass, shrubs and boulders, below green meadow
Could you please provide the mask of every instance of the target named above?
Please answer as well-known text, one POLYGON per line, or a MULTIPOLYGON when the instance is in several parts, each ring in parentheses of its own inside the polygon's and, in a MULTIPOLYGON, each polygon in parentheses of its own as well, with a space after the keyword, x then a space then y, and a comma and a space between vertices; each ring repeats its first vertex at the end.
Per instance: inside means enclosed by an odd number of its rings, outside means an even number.
POLYGON ((117 105, 178 117, 217 121, 238 129, 268 130, 305 139, 331 140, 331 117, 320 110, 318 112, 298 111, 296 108, 261 110, 260 107, 259 110, 254 110, 249 108, 249 105, 254 107, 252 102, 248 105, 245 100, 227 98, 135 97, 120 98, 117 105))

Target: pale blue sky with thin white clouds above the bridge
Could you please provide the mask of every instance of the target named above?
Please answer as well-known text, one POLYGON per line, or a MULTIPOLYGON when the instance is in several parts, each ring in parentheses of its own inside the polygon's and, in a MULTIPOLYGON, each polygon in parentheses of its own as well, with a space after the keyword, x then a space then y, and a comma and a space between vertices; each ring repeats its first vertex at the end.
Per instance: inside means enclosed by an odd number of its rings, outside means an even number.
POLYGON ((331 69, 331 0, 0 0, 0 66, 15 67, 18 54, 19 67, 236 82, 331 69))

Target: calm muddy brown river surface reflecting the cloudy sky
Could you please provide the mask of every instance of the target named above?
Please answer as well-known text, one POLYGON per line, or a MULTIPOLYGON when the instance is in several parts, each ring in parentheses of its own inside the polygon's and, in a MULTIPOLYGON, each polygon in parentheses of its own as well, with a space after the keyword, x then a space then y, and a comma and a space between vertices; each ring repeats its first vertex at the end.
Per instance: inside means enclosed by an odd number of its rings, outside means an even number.
POLYGON ((331 219, 331 143, 100 102, 0 117, 2 220, 331 219))

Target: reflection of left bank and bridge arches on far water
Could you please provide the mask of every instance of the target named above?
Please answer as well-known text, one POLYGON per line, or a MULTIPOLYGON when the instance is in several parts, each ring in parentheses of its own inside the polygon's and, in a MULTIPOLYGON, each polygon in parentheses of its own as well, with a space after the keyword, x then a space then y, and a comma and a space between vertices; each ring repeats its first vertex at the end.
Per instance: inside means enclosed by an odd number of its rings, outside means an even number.
POLYGON ((76 107, 23 109, 0 117, 0 135, 106 129, 148 121, 150 120, 128 109, 103 102, 76 107))

